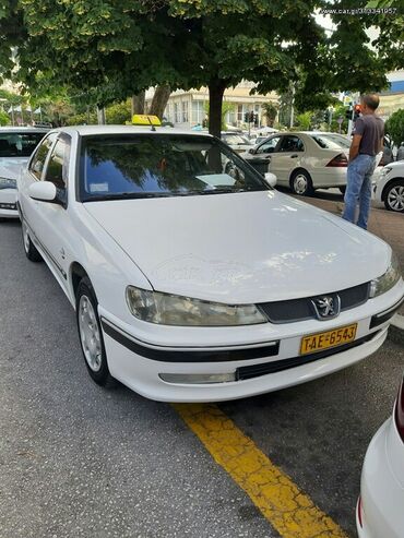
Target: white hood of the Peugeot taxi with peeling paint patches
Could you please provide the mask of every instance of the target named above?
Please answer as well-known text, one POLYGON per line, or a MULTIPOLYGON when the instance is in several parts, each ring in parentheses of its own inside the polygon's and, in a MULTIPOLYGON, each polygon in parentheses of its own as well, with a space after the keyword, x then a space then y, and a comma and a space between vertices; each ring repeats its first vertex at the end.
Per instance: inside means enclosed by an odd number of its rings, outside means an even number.
POLYGON ((382 275, 390 247, 276 191, 87 202, 159 291, 228 303, 345 289, 382 275))

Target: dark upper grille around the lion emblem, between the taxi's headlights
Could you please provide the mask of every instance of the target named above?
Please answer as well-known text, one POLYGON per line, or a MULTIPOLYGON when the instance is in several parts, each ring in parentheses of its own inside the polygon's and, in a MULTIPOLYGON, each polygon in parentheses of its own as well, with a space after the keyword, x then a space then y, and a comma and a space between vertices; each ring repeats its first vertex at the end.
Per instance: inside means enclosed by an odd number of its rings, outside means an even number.
MULTIPOLYGON (((323 295, 338 295, 341 299, 341 311, 349 310, 364 304, 368 300, 369 283, 323 295)), ((293 323, 304 320, 316 320, 317 314, 311 301, 319 297, 322 296, 305 297, 288 301, 262 302, 258 307, 264 312, 271 323, 293 323)))

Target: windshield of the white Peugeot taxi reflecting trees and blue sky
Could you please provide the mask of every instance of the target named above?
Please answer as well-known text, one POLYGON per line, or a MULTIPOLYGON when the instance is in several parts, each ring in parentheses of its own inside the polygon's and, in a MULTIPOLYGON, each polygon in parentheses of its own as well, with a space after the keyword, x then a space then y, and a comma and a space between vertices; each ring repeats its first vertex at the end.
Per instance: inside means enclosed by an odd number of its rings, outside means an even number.
POLYGON ((268 189, 253 168, 210 136, 150 133, 83 138, 83 202, 268 189))

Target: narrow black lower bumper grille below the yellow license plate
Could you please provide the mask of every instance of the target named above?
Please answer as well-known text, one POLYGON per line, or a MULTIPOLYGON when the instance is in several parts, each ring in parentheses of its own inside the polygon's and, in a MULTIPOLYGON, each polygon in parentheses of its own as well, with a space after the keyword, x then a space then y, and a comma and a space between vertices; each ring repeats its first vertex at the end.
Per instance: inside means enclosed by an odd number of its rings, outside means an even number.
POLYGON ((325 359, 332 355, 341 354, 347 351, 353 347, 360 346, 366 342, 375 338, 379 332, 368 334, 363 336, 355 342, 349 344, 344 344, 343 346, 333 347, 331 349, 324 349, 324 351, 318 351, 310 355, 300 355, 299 357, 292 357, 290 359, 274 360, 273 362, 264 362, 262 364, 252 364, 249 367, 237 368, 236 380, 242 381, 252 378, 259 378, 260 375, 266 375, 269 373, 282 372, 284 370, 289 370, 290 368, 300 367, 307 364, 308 362, 313 362, 314 360, 325 359))

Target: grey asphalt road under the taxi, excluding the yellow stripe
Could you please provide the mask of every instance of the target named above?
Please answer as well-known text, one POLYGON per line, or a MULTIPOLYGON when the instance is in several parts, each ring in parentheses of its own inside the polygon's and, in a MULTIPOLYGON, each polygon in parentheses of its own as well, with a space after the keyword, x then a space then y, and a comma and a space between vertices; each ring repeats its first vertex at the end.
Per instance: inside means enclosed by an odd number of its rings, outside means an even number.
MULTIPOLYGON (((364 454, 403 364, 404 349, 388 340, 329 378, 218 407, 354 537, 364 454)), ((0 432, 1 538, 278 536, 170 405, 91 381, 73 310, 8 222, 0 432)))

